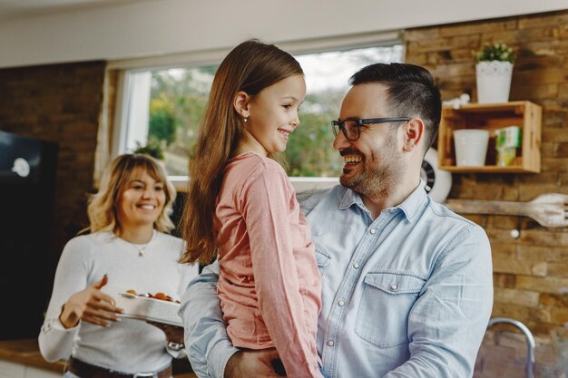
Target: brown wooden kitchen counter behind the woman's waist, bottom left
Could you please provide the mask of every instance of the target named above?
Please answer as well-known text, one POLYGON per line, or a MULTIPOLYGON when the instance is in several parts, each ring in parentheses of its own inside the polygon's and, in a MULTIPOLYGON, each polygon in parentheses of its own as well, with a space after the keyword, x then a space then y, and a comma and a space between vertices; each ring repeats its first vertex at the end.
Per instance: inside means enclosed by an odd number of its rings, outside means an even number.
MULTIPOLYGON (((64 361, 57 363, 48 363, 39 353, 37 339, 22 340, 0 340, 0 360, 10 363, 21 363, 25 366, 31 366, 36 369, 51 371, 53 373, 64 372, 64 361)), ((173 363, 174 378, 196 378, 197 376, 191 372, 190 363, 183 360, 175 360, 173 363)))

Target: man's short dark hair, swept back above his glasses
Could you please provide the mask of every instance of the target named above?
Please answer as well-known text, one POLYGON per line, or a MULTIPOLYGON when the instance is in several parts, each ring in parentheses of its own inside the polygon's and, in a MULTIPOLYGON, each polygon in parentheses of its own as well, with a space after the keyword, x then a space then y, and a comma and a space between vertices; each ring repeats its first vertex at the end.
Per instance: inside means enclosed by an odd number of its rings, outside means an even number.
MULTIPOLYGON (((377 82, 387 85, 386 117, 416 117, 426 126, 426 150, 436 139, 442 100, 432 74, 424 67, 408 63, 375 63, 367 65, 349 79, 351 85, 377 82)), ((426 153, 425 150, 425 153, 426 153)))

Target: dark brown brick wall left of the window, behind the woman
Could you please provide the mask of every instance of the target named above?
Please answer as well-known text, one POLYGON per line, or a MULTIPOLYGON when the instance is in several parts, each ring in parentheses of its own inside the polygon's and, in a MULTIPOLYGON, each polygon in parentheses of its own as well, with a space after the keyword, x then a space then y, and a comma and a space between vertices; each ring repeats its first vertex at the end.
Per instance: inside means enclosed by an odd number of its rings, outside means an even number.
POLYGON ((64 243, 88 225, 104 69, 87 62, 0 70, 0 130, 59 143, 52 269, 64 243))

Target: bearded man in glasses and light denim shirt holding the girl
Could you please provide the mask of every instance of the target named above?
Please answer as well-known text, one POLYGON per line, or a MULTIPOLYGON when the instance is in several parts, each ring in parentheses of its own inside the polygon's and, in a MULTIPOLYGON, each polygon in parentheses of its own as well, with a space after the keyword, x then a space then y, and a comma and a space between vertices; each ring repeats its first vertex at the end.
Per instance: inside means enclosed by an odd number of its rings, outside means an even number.
MULTIPOLYGON (((341 186, 300 199, 322 276, 318 354, 329 378, 467 378, 493 304, 485 231, 433 202, 420 167, 440 94, 412 64, 351 77, 334 148, 341 186)), ((299 196, 301 197, 301 195, 299 196)), ((182 300, 187 352, 201 377, 277 376, 274 351, 243 352, 225 333, 208 267, 182 300)))

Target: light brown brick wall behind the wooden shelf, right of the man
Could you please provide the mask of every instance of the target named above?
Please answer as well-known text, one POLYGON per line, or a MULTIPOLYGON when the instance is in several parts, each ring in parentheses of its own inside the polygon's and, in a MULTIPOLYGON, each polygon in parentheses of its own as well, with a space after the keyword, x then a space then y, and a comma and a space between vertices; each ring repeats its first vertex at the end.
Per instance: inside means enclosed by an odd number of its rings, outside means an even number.
MULTIPOLYGON (((475 102, 472 52, 485 42, 503 42, 518 55, 510 100, 543 106, 542 170, 454 173, 449 198, 528 201, 542 193, 568 193, 568 11, 410 29, 405 34, 406 63, 426 66, 443 100, 466 92, 475 102)), ((468 218, 483 226, 491 240, 492 316, 523 322, 537 336, 541 351, 568 346, 565 336, 558 338, 568 324, 568 228, 543 228, 523 217, 468 218), (512 229, 520 237, 511 237, 512 229)), ((544 376, 542 369, 540 373, 544 376)))

